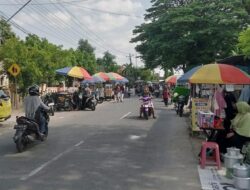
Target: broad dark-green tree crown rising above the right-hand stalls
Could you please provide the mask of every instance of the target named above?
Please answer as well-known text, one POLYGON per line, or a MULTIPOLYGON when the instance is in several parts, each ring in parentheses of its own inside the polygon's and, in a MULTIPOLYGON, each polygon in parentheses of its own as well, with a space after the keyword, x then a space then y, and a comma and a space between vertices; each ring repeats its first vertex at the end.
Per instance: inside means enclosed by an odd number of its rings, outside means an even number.
POLYGON ((206 64, 229 56, 249 24, 241 0, 152 0, 147 22, 131 42, 146 67, 164 69, 206 64))

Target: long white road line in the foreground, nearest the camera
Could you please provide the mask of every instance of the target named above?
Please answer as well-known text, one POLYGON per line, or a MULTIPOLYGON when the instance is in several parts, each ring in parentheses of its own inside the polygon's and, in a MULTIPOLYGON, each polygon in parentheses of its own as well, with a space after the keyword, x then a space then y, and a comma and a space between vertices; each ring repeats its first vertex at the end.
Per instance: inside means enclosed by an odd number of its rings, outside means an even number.
POLYGON ((30 177, 36 175, 38 172, 40 172, 42 169, 44 169, 46 166, 48 166, 49 164, 53 163, 54 161, 57 161, 59 158, 61 158, 63 155, 71 152, 72 150, 74 150, 75 147, 80 146, 81 144, 83 144, 84 141, 80 141, 79 143, 75 144, 73 147, 65 150, 64 152, 58 154, 57 156, 55 156, 54 158, 52 158, 51 160, 45 162, 44 164, 42 164, 41 166, 39 166, 38 168, 32 170, 29 174, 24 175, 23 177, 20 178, 20 180, 25 181, 27 179, 29 179, 30 177))

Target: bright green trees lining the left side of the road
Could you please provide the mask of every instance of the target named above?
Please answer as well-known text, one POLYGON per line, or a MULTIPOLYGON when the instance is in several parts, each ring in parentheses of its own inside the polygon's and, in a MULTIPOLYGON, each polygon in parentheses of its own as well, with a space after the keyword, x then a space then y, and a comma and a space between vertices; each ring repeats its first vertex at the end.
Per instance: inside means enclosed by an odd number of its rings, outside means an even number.
MULTIPOLYGON (((25 92, 34 83, 57 84, 64 77, 55 71, 66 66, 82 66, 92 74, 96 71, 94 48, 87 40, 79 40, 76 50, 63 49, 33 34, 21 40, 15 37, 5 21, 1 22, 0 29, 6 33, 3 33, 4 43, 0 46, 0 61, 5 70, 13 63, 20 66, 21 72, 17 76, 20 91, 25 92)), ((10 80, 14 78, 10 76, 10 80)))

